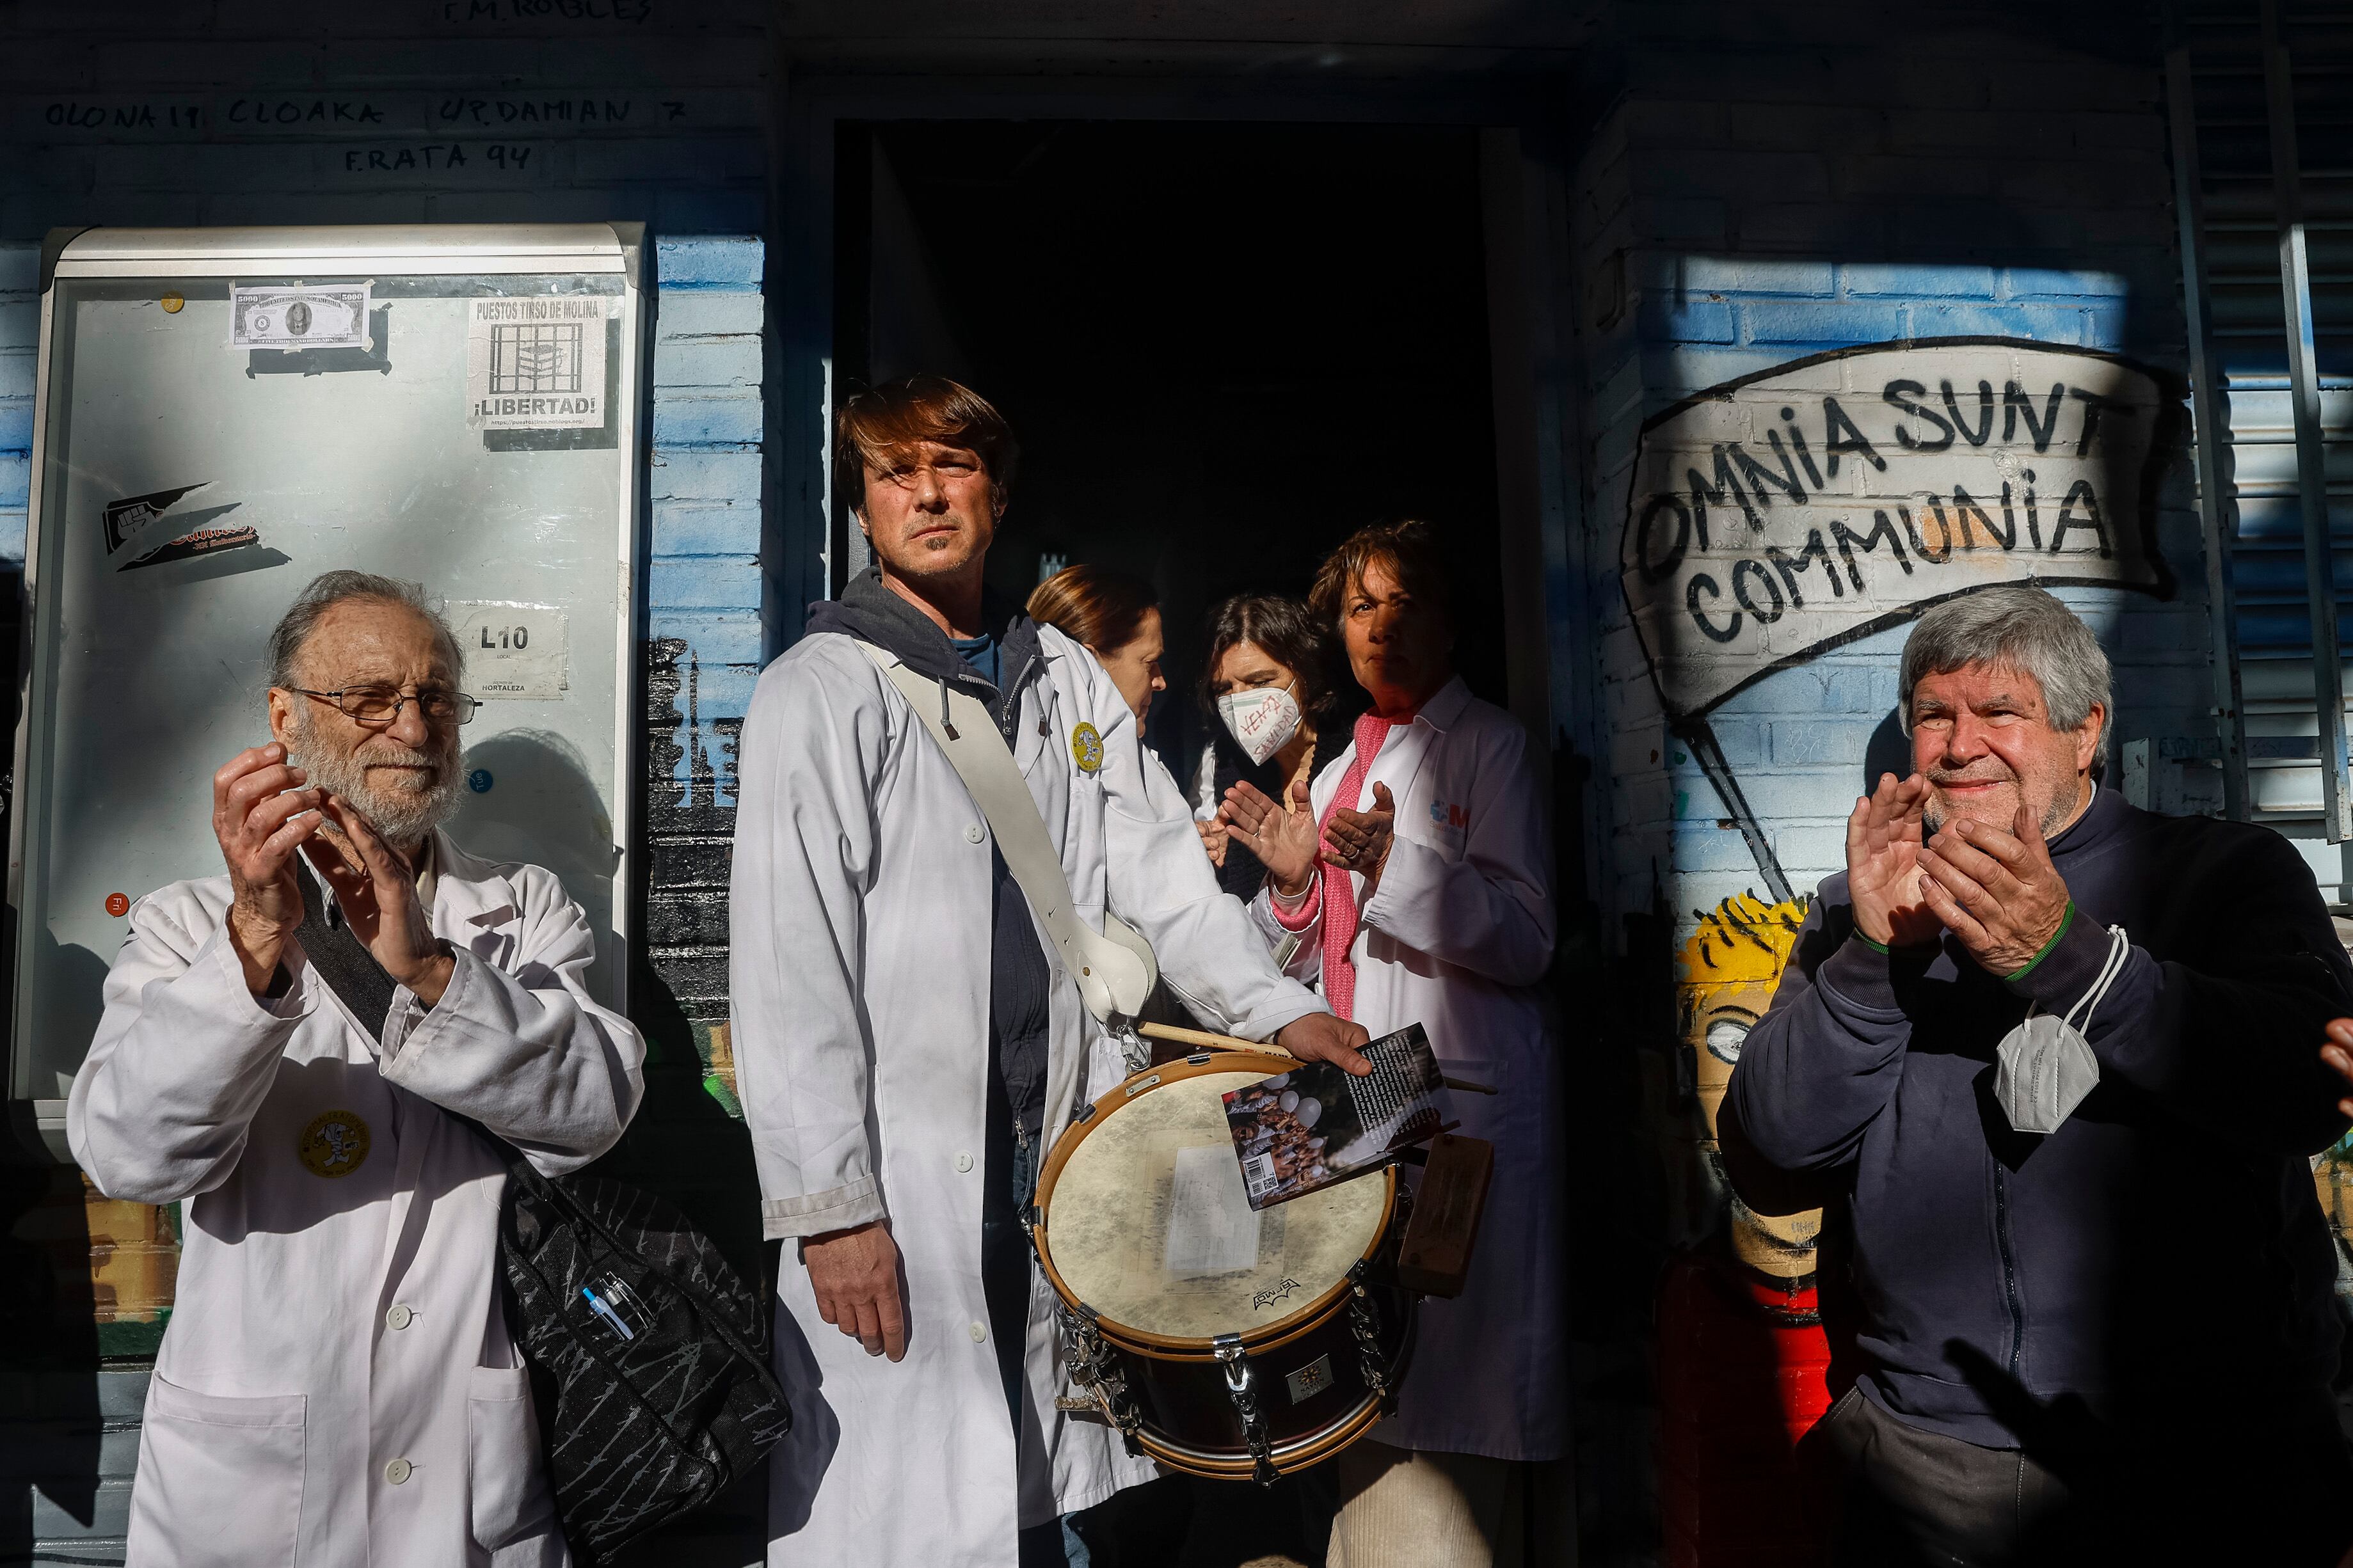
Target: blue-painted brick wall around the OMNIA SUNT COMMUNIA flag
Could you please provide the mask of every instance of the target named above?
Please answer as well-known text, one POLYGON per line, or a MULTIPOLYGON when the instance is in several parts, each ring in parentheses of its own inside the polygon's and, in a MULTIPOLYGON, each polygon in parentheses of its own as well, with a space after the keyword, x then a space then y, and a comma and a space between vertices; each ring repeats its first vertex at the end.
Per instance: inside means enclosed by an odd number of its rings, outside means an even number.
MULTIPOLYGON (((1666 26, 1664 21, 1659 24, 1666 26)), ((1762 879, 1725 804, 1666 733, 1624 614, 1617 548, 1640 421, 1802 355, 1913 336, 2000 334, 2181 364, 2162 120, 2148 73, 2068 61, 2068 113, 2021 136, 2017 40, 1955 40, 1937 99, 1908 71, 1694 49, 1654 38, 1572 179, 1581 301, 1588 571, 1605 607, 1609 924, 1659 889, 1689 924, 1762 879), (1699 101, 1689 82, 1734 82, 1699 101), (1835 103, 1835 108, 1828 108, 1835 103)), ((2040 78, 2035 78, 2040 80, 2040 78)), ((2202 564, 2186 475, 2160 501, 2181 597, 2066 590, 2118 663, 2129 736, 2207 736, 2202 564)), ((1788 879, 1842 863, 1864 757, 1894 712, 1892 628, 1781 670, 1713 715, 1788 879)))

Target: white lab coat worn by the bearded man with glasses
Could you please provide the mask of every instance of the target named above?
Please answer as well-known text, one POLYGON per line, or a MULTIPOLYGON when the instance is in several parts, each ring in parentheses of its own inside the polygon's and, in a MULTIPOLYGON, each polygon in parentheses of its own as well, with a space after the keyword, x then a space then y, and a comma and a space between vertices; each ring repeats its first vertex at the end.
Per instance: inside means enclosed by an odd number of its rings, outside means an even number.
POLYGON ((395 990, 381 1041, 299 952, 282 999, 245 990, 228 877, 132 905, 66 1135, 108 1197, 188 1199, 134 1568, 565 1561, 494 1288, 506 1173, 440 1107, 572 1171, 628 1126, 645 1044, 588 1001, 595 943, 551 872, 447 837, 435 867, 456 973, 431 1011, 395 990), (325 1112, 367 1128, 348 1173, 296 1152, 325 1112))

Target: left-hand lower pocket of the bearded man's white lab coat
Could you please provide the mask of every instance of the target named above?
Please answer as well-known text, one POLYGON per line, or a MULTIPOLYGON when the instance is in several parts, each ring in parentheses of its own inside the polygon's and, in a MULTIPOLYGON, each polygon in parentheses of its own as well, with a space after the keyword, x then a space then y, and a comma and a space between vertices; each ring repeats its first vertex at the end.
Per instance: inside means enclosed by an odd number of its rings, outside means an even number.
POLYGON ((306 1403, 304 1394, 235 1399, 151 1380, 127 1559, 289 1566, 301 1530, 306 1403))

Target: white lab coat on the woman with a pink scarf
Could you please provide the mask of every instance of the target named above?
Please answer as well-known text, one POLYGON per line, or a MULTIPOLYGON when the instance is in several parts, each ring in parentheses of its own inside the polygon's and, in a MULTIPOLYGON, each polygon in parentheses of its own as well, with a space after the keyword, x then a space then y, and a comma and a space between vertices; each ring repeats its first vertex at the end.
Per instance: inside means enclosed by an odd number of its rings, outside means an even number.
MULTIPOLYGON (((1351 743, 1315 773, 1315 820, 1355 762, 1351 743)), ((1372 1436, 1400 1448, 1555 1460, 1569 1450, 1567 1269, 1560 1065, 1537 990, 1553 957, 1553 860, 1527 731, 1449 682, 1391 729, 1362 797, 1386 783, 1395 844, 1372 903, 1355 884, 1355 1020, 1374 1039, 1424 1025, 1447 1077, 1501 1093, 1454 1093, 1461 1133, 1494 1143, 1494 1180, 1471 1281, 1424 1300, 1395 1418, 1372 1436)), ((1268 940, 1271 893, 1252 903, 1268 940)), ((1292 973, 1320 978, 1322 919, 1292 973)), ((1318 980, 1320 983, 1320 980, 1318 980)))

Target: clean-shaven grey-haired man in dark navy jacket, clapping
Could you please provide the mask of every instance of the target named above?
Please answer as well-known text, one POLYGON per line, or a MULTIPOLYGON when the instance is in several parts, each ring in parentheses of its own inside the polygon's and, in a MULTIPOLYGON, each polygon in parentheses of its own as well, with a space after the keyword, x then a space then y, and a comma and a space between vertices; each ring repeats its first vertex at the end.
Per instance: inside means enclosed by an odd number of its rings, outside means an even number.
POLYGON ((1833 1561, 2337 1563, 2313 875, 2097 783, 2108 658, 2040 588, 1927 611, 1899 689, 1913 773, 1854 804, 1720 1124, 1751 1208, 1826 1206, 1833 1561))

